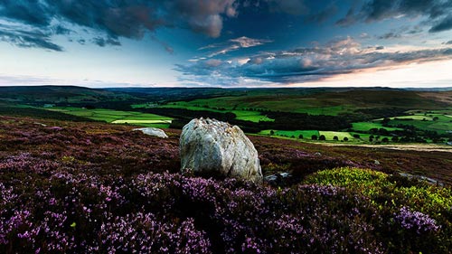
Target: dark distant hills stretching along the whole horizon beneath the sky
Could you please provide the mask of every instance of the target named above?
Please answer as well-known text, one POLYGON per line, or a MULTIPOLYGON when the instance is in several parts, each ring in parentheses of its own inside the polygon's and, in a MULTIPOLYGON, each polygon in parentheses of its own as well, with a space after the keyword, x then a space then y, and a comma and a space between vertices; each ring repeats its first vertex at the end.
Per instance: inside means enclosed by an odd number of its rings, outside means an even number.
MULTIPOLYGON (((452 106, 452 91, 443 89, 389 88, 109 88, 89 89, 76 86, 0 87, 0 104, 130 109, 131 104, 146 102, 191 101, 228 98, 244 104, 274 101, 278 104, 298 99, 317 107, 348 105, 353 108, 426 108, 452 106)), ((207 101, 209 102, 209 101, 207 101)), ((299 105, 298 105, 299 106, 299 105)), ((284 111, 284 110, 281 110, 284 111)))

